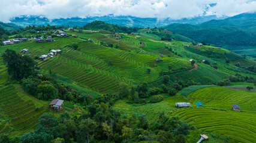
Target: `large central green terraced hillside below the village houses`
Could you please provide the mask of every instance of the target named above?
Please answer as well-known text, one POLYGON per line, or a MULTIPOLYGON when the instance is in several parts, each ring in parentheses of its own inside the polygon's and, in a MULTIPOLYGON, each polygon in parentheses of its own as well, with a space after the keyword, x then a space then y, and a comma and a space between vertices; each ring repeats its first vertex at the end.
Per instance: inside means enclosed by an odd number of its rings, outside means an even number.
MULTIPOLYGON (((91 34, 80 33, 80 35, 91 34)), ((91 36, 103 38, 106 35, 97 33, 91 36)), ((122 41, 125 41, 128 45, 133 40, 132 38, 127 38, 122 41)), ((132 46, 135 45, 139 46, 139 41, 132 46)), ((47 55, 51 49, 61 49, 62 52, 53 58, 48 57, 46 61, 36 60, 38 66, 41 67, 41 71, 48 73, 49 70, 52 70, 53 73, 61 74, 85 88, 100 93, 118 91, 121 89, 120 83, 122 82, 131 85, 134 82, 143 80, 154 80, 158 78, 158 73, 161 70, 168 70, 167 66, 171 66, 173 70, 190 67, 189 62, 182 58, 164 57, 161 58, 163 61, 158 63, 155 61, 159 57, 158 55, 137 54, 109 48, 71 36, 68 38, 55 38, 55 42, 36 43, 35 41, 29 41, 8 45, 4 46, 1 52, 4 52, 6 48, 14 49, 16 52, 24 48, 29 49, 29 54, 32 58, 40 57, 43 54, 47 55), (79 44, 79 50, 64 46, 74 42, 79 44), (109 63, 110 61, 111 63, 109 63), (150 78, 145 76, 147 79, 143 79, 144 76, 142 76, 137 80, 137 77, 127 74, 129 71, 132 72, 132 75, 138 72, 141 73, 140 75, 147 74, 146 68, 151 68, 154 76, 150 78)), ((6 77, 3 80, 6 80, 6 77)))

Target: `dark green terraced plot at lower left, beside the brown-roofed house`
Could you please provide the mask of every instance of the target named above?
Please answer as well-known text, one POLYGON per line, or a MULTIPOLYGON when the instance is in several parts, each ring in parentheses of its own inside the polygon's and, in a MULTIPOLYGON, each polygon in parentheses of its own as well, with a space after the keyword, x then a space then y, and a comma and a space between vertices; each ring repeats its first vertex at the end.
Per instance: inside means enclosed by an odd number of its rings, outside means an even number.
POLYGON ((47 111, 45 107, 37 109, 34 101, 23 100, 21 95, 15 86, 0 89, 0 109, 7 119, 0 125, 0 133, 8 133, 11 129, 29 132, 35 128, 38 117, 47 111))

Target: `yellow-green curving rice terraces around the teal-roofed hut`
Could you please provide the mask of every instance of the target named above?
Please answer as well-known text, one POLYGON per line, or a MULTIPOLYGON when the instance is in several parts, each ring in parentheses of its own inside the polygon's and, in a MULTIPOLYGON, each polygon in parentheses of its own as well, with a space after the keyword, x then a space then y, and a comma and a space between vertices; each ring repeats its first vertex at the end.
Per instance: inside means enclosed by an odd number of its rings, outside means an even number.
POLYGON ((194 108, 181 108, 174 114, 206 132, 228 136, 231 142, 255 142, 256 93, 233 91, 223 87, 199 89, 188 95, 194 108), (196 108, 201 101, 204 108, 196 108), (239 105, 240 112, 232 111, 232 104, 239 105))

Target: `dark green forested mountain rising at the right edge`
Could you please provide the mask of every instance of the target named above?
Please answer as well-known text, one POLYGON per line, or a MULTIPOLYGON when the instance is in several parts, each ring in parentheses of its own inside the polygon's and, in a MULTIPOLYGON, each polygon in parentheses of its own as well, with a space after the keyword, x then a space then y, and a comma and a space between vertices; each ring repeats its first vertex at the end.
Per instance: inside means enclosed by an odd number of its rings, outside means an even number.
POLYGON ((179 33, 194 41, 224 45, 256 45, 256 13, 243 13, 224 20, 210 20, 201 24, 170 24, 171 32, 179 33))

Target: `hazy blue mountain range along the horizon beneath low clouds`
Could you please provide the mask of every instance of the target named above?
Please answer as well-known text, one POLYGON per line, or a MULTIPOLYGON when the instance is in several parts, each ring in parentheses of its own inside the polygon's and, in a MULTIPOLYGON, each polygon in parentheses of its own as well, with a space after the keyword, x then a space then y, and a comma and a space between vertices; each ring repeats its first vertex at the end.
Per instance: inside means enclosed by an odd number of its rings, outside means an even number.
POLYGON ((189 24, 197 24, 203 23, 213 19, 224 19, 226 17, 216 17, 215 15, 211 16, 200 16, 195 18, 183 18, 181 20, 170 20, 170 19, 163 19, 158 20, 157 18, 140 18, 140 17, 132 17, 132 16, 114 16, 114 15, 107 15, 103 17, 88 17, 88 18, 59 18, 49 20, 48 18, 40 15, 40 16, 28 16, 23 15, 20 17, 15 17, 11 19, 11 23, 16 24, 17 26, 28 26, 28 25, 56 25, 56 26, 84 26, 87 23, 92 21, 104 21, 105 23, 111 24, 118 24, 119 26, 128 26, 128 27, 159 27, 159 26, 167 26, 171 23, 189 23, 189 24))

